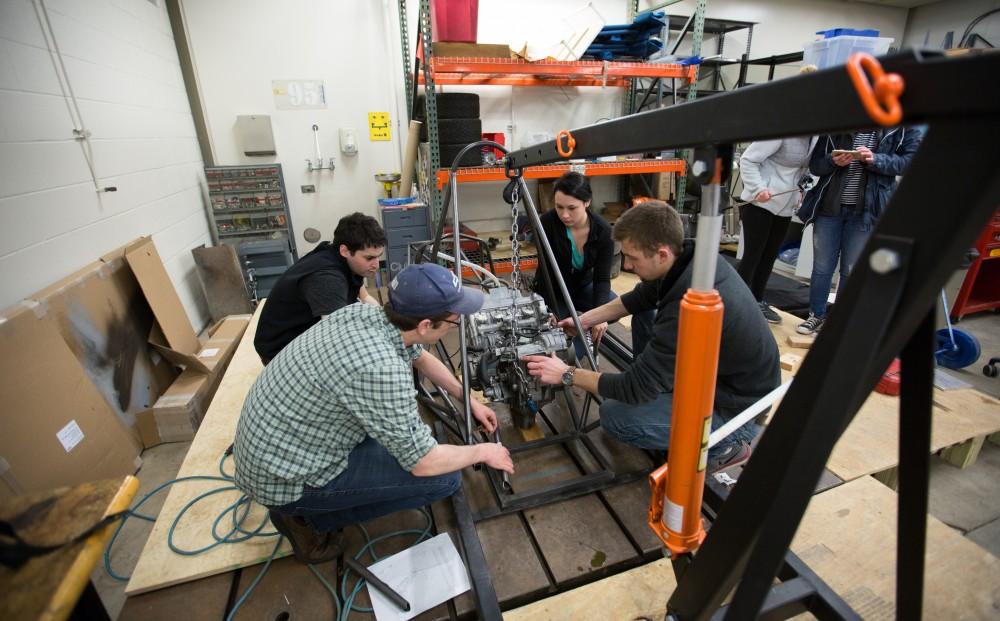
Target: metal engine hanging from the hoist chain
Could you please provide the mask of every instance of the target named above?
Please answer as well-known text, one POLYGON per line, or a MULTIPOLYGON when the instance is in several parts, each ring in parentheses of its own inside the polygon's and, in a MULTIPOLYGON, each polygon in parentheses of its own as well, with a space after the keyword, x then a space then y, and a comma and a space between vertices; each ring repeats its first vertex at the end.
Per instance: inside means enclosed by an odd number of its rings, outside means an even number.
POLYGON ((470 384, 493 402, 503 401, 520 427, 534 424, 538 408, 555 396, 552 386, 528 374, 522 356, 563 354, 566 333, 537 293, 507 287, 487 292, 483 307, 466 320, 470 384))

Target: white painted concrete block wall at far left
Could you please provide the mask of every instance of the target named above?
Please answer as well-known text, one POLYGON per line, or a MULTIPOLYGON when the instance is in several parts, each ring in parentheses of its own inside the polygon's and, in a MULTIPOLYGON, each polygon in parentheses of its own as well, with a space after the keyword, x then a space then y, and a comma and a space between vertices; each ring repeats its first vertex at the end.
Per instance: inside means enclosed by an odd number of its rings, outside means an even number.
POLYGON ((211 244, 204 196, 162 0, 0 2, 0 308, 152 235, 192 324, 203 327, 190 251, 211 244), (73 135, 70 88, 98 185, 116 192, 95 190, 73 135))

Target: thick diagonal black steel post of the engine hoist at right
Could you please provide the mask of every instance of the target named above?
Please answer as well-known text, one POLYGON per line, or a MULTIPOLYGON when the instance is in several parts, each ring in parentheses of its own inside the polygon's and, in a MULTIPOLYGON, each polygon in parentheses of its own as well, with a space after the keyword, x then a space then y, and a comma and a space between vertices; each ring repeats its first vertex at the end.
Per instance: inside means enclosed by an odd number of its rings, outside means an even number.
MULTIPOLYGON (((816 130, 822 127, 818 122, 816 130)), ((834 444, 1000 203, 998 141, 997 115, 931 126, 674 592, 670 604, 678 618, 710 618, 737 582, 726 618, 750 619, 760 609, 834 444), (954 178, 969 182, 940 182, 954 178), (893 253, 895 268, 875 271, 877 251, 893 253)))

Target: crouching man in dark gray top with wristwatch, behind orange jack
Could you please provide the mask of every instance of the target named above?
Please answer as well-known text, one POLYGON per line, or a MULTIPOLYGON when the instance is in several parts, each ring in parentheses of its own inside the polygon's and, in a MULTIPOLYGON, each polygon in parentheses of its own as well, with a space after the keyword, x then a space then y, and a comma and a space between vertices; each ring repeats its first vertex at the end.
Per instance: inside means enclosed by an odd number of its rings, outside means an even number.
MULTIPOLYGON (((604 398, 601 426, 612 437, 644 449, 666 450, 670 442, 677 325, 680 303, 691 286, 694 243, 684 240, 680 216, 660 201, 626 211, 615 224, 625 268, 642 283, 633 291, 580 316, 584 329, 602 321, 656 309, 653 339, 622 373, 574 369, 558 358, 529 356, 528 370, 546 384, 578 386, 604 398)), ((736 271, 719 261, 715 288, 725 306, 712 428, 722 426, 776 388, 781 375, 778 347, 753 294, 736 271)), ((560 325, 575 334, 571 319, 560 325)), ((709 451, 709 471, 729 468, 750 456, 760 432, 744 425, 709 451)))

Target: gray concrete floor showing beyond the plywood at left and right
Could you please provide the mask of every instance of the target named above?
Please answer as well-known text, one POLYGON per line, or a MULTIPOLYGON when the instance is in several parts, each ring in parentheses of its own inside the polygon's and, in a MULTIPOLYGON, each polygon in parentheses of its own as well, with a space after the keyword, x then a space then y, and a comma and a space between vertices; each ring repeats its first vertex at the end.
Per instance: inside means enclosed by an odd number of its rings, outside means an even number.
MULTIPOLYGON (((946 287, 949 301, 954 300, 963 274, 946 287)), ((943 325, 943 323, 942 323, 943 325)), ((982 374, 982 366, 991 356, 1000 356, 1000 314, 980 313, 963 319, 957 326, 975 336, 980 343, 980 360, 966 369, 949 371, 978 390, 1000 397, 1000 378, 982 374)), ((139 471, 141 488, 137 498, 170 480, 180 469, 190 443, 165 444, 145 451, 139 471)), ((1000 446, 987 442, 978 461, 960 470, 939 458, 931 467, 930 513, 963 535, 1000 557, 1000 446)), ((155 515, 165 492, 151 499, 142 513, 155 515)), ((128 574, 135 566, 151 524, 130 520, 115 544, 111 563, 119 574, 128 574)), ((93 580, 112 619, 125 602, 125 583, 112 579, 103 566, 94 571, 93 580)), ((180 611, 179 611, 180 612, 180 611)))

